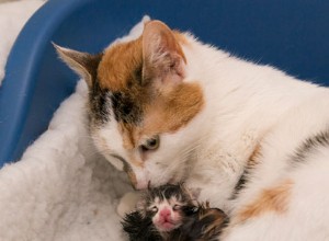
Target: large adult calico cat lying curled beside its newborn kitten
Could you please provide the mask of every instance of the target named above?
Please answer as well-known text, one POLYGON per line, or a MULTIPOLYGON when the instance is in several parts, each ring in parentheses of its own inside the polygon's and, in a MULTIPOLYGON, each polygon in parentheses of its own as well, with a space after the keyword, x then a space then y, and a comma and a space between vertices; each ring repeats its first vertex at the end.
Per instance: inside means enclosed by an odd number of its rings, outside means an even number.
POLYGON ((184 182, 220 240, 329 240, 329 91, 146 23, 99 55, 56 47, 89 87, 90 135, 137 190, 184 182))

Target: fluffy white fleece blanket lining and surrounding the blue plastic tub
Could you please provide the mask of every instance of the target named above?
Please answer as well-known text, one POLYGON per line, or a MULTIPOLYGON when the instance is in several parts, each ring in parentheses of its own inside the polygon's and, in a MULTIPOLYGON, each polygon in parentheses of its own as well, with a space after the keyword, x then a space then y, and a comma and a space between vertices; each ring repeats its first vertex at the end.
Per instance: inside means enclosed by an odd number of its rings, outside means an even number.
MULTIPOLYGON (((10 33, 5 42, 0 37, 0 74, 19 30, 42 2, 0 4, 0 34, 10 33)), ((141 30, 143 24, 136 25, 128 38, 141 30)), ((82 80, 22 160, 0 170, 1 241, 124 240, 115 210, 118 198, 131 187, 125 174, 93 148, 86 101, 82 80)))

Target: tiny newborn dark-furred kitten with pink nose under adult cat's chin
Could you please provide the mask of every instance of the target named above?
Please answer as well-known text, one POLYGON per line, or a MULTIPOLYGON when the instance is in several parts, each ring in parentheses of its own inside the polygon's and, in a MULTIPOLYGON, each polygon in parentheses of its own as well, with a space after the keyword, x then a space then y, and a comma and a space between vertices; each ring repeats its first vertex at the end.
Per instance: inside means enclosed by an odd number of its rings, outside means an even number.
POLYGON ((149 188, 139 208, 125 216, 122 225, 131 241, 215 240, 227 216, 208 203, 196 204, 183 185, 149 188))

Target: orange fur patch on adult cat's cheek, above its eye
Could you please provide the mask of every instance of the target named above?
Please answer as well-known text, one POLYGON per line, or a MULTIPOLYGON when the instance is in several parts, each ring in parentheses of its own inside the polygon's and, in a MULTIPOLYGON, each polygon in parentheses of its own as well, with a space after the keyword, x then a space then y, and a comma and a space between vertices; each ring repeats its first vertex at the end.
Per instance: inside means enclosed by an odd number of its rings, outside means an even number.
POLYGON ((144 120, 140 125, 120 122, 124 148, 137 148, 141 137, 151 137, 163 133, 174 133, 202 111, 203 91, 198 83, 180 83, 168 92, 161 92, 149 104, 145 104, 144 120))

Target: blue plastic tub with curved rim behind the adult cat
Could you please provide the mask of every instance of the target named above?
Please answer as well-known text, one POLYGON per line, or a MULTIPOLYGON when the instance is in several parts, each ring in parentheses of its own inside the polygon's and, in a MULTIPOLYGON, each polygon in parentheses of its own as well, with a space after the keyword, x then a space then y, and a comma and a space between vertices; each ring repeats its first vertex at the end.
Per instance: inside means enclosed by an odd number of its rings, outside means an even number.
POLYGON ((98 53, 148 14, 240 57, 329 85, 328 13, 322 0, 49 0, 9 57, 0 88, 0 167, 21 157, 73 91, 78 78, 57 59, 52 41, 98 53))

